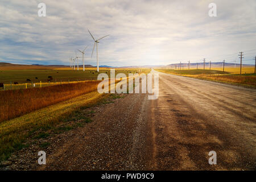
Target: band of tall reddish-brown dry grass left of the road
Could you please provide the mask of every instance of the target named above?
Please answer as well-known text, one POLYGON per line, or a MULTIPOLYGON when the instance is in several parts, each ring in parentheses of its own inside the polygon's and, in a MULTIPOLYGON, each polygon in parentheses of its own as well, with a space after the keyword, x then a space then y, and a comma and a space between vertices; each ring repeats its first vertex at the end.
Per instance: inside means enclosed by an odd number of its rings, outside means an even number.
POLYGON ((0 122, 80 96, 97 89, 100 81, 0 92, 0 122))

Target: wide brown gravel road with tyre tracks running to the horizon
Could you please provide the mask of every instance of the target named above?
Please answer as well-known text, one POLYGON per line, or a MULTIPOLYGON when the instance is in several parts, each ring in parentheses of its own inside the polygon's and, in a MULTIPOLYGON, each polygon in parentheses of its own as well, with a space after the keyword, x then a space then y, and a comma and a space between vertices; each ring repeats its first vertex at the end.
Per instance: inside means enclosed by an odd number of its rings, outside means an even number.
POLYGON ((158 100, 126 94, 98 106, 92 123, 52 139, 46 165, 28 169, 255 170, 255 101, 255 89, 159 73, 158 100))

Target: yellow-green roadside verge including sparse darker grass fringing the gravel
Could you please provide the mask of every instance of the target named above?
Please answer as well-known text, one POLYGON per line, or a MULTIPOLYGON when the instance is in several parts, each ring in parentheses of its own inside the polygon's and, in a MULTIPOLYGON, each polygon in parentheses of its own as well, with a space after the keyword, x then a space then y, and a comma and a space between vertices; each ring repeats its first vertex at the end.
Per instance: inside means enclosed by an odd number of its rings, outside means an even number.
MULTIPOLYGON (((84 127, 92 122, 90 115, 94 111, 90 107, 109 104, 123 97, 90 92, 0 123, 0 161, 7 160, 14 151, 28 147, 38 139, 84 127)), ((40 144, 42 148, 47 146, 40 144)))

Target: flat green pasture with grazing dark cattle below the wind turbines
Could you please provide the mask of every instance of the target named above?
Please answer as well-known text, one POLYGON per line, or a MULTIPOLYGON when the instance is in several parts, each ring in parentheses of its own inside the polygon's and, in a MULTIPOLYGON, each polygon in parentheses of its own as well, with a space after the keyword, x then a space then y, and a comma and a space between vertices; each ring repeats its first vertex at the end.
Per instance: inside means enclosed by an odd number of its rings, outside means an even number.
MULTIPOLYGON (((115 75, 118 73, 141 73, 149 72, 150 69, 115 69, 115 75)), ((100 72, 96 72, 96 69, 85 69, 82 71, 80 69, 10 69, 10 70, 0 70, 0 82, 5 84, 5 89, 24 89, 26 88, 27 78, 31 80, 27 82, 27 88, 32 88, 40 86, 40 81, 42 86, 50 86, 56 84, 63 84, 68 82, 77 82, 85 80, 97 80, 97 76, 100 73, 107 73, 110 77, 110 69, 100 69, 100 72), (48 82, 48 76, 52 76, 53 80, 48 82), (36 79, 36 77, 38 79, 36 79), (14 82, 18 82, 18 85, 14 85, 14 82)))

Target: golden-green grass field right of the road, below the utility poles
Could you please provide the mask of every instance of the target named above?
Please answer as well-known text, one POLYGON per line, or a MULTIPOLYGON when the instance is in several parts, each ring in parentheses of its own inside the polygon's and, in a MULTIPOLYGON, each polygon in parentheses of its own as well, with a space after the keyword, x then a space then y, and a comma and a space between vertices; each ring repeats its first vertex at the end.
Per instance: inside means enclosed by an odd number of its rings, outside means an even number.
POLYGON ((209 69, 186 69, 186 70, 174 70, 174 69, 156 69, 156 71, 171 73, 175 75, 188 76, 193 78, 200 78, 204 80, 213 80, 221 82, 229 82, 241 85, 253 85, 256 86, 256 74, 254 73, 254 68, 243 68, 243 73, 241 76, 240 69, 226 68, 227 72, 220 71, 220 68, 214 68, 218 70, 209 70, 209 69))

